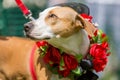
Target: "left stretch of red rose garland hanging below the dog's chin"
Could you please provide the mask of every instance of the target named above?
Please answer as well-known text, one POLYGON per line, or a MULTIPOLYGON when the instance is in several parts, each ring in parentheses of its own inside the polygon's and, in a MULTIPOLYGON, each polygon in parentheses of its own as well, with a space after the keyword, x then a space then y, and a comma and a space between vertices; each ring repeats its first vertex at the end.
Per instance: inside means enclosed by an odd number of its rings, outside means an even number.
POLYGON ((37 45, 40 48, 40 55, 43 56, 44 62, 53 73, 59 74, 59 77, 80 74, 78 62, 82 59, 81 56, 76 59, 75 56, 62 52, 45 41, 37 42, 37 45))

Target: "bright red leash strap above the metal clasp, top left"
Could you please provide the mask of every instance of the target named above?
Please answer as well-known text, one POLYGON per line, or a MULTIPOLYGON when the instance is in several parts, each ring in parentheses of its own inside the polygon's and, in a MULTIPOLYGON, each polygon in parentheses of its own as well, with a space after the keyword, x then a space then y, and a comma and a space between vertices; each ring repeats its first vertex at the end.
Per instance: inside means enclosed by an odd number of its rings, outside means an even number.
POLYGON ((23 4, 23 2, 21 0, 15 0, 17 5, 19 6, 19 8, 21 9, 21 11, 23 12, 24 15, 29 15, 30 11, 28 10, 28 8, 23 4))

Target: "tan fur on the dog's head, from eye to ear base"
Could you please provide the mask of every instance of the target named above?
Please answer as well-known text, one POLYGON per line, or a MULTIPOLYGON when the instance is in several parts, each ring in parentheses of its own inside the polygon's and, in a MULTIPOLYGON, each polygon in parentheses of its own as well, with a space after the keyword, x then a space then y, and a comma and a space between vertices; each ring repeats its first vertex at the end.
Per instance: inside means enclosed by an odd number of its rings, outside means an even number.
POLYGON ((45 20, 55 34, 67 37, 83 28, 81 19, 77 17, 79 16, 73 9, 63 7, 51 10, 45 20), (50 17, 52 14, 57 16, 50 17))

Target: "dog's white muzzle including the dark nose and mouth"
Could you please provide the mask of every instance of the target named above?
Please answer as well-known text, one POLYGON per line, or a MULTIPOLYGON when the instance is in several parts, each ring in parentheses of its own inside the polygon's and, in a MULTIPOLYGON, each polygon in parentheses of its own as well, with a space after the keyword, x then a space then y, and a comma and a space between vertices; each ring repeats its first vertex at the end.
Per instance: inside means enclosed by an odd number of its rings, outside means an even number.
POLYGON ((40 25, 37 22, 24 24, 24 35, 31 39, 48 40, 55 37, 54 32, 46 24, 40 25))

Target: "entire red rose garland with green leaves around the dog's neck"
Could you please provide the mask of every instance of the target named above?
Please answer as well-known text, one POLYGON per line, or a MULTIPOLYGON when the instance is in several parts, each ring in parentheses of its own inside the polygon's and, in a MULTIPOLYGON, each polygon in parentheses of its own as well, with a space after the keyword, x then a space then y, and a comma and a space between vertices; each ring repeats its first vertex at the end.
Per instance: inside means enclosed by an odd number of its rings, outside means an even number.
MULTIPOLYGON (((91 16, 86 14, 81 16, 91 22, 91 16)), ((82 55, 73 56, 65 53, 46 41, 37 42, 37 45, 44 62, 54 74, 58 74, 60 78, 69 77, 74 80, 76 76, 82 76, 86 71, 103 71, 108 62, 107 57, 110 55, 108 37, 98 29, 93 36, 88 37, 90 48, 85 58, 82 55)))

